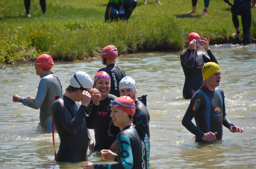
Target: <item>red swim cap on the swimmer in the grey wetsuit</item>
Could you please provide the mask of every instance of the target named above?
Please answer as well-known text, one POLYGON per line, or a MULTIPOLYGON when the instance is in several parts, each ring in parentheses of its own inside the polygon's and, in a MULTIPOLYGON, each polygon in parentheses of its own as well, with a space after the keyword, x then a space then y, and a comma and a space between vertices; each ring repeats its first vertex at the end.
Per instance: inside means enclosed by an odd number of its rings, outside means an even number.
POLYGON ((46 71, 50 71, 53 67, 52 57, 48 54, 40 55, 36 58, 36 65, 46 71))

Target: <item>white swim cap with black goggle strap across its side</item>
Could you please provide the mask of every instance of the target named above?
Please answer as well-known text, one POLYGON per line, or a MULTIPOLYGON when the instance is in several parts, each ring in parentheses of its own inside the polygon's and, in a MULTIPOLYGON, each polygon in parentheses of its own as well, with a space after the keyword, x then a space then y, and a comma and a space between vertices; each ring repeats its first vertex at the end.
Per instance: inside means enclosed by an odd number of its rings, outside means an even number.
POLYGON ((84 71, 78 71, 71 76, 70 86, 76 88, 92 88, 92 78, 84 71))

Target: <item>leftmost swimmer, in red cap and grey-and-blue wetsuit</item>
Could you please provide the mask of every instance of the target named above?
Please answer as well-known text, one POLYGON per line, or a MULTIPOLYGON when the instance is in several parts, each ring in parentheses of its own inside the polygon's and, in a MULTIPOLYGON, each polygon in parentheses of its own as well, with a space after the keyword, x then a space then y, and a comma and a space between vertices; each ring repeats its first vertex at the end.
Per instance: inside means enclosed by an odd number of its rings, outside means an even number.
POLYGON ((28 96, 27 99, 14 94, 13 102, 21 102, 23 105, 38 109, 40 108, 40 126, 43 130, 50 131, 52 129, 52 103, 55 96, 62 95, 62 87, 59 78, 50 70, 53 67, 52 57, 43 54, 37 57, 35 62, 36 75, 41 77, 38 85, 36 97, 28 96))

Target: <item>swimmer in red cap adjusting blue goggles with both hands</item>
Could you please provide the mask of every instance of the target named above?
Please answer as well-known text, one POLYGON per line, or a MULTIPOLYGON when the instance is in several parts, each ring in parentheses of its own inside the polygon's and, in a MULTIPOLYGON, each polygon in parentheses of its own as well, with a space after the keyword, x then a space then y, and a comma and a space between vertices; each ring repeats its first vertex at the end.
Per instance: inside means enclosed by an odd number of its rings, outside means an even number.
POLYGON ((185 75, 182 94, 185 99, 191 99, 204 82, 202 76, 204 63, 215 62, 218 64, 218 61, 209 48, 210 39, 201 40, 199 34, 192 32, 189 33, 187 40, 188 49, 180 54, 180 62, 185 75), (198 51, 201 44, 210 57, 204 52, 198 51))

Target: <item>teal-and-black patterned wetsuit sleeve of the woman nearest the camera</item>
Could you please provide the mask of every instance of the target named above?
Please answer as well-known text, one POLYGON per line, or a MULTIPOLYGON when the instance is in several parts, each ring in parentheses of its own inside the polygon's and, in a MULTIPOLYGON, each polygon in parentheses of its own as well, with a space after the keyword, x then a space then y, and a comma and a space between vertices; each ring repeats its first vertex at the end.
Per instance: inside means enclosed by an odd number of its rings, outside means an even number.
POLYGON ((131 142, 130 138, 126 135, 117 135, 117 145, 121 146, 122 150, 120 152, 121 154, 121 161, 116 164, 100 164, 99 169, 105 169, 105 168, 111 168, 111 169, 131 169, 133 166, 133 156, 132 156, 132 147, 131 147, 131 142), (125 155, 122 156, 122 155, 125 155))

